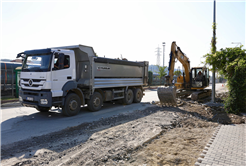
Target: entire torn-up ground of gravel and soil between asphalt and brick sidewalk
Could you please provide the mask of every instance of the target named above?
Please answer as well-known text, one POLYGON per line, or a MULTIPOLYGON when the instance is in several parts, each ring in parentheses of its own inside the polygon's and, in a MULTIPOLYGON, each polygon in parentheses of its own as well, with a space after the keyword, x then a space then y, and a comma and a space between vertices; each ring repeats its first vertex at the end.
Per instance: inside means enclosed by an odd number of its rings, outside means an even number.
POLYGON ((224 111, 225 96, 217 96, 217 104, 153 102, 143 111, 5 145, 0 165, 194 165, 218 125, 245 123, 224 111))

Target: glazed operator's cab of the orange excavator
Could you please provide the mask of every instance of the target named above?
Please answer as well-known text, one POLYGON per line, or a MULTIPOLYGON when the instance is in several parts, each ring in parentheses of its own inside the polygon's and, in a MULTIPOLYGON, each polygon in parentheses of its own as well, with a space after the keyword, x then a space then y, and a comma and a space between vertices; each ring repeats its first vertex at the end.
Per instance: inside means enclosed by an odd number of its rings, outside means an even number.
POLYGON ((191 89, 204 89, 209 86, 209 70, 204 67, 194 67, 190 72, 191 89))

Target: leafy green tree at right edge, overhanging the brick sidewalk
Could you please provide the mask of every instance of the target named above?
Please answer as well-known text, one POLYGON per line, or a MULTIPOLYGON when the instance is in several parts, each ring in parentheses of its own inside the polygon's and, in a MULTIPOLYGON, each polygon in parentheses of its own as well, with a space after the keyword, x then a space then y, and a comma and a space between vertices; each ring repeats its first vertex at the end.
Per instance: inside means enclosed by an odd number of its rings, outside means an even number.
POLYGON ((228 113, 246 111, 246 50, 242 47, 220 49, 204 56, 206 64, 228 80, 229 96, 224 103, 228 113))

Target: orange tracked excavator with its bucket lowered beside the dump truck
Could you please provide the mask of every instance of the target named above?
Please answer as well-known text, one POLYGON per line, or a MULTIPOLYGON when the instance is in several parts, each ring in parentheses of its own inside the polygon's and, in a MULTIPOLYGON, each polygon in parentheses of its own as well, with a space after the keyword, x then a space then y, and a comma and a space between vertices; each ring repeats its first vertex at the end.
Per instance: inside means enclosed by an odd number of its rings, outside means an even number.
POLYGON ((165 105, 176 105, 176 98, 191 95, 192 100, 199 100, 211 95, 209 86, 209 70, 206 67, 190 68, 189 58, 181 51, 176 42, 172 42, 168 75, 165 76, 165 86, 158 87, 157 93, 160 102, 165 105), (184 72, 177 78, 177 83, 172 85, 175 60, 184 67, 184 72))

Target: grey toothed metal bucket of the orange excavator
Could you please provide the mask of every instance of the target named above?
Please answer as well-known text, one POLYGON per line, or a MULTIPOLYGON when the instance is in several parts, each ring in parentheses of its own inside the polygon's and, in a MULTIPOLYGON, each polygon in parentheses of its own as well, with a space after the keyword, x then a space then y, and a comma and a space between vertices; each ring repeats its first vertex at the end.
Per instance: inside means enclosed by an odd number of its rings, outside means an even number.
POLYGON ((176 106, 176 86, 161 86, 157 89, 157 94, 161 104, 168 106, 176 106))

